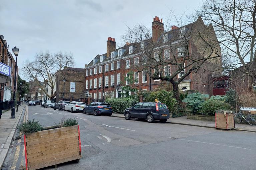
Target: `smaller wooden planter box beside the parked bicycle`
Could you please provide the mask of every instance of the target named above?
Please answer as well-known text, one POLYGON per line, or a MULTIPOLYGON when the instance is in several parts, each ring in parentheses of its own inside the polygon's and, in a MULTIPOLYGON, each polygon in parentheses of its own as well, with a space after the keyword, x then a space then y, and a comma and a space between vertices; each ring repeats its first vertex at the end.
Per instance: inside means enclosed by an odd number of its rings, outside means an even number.
POLYGON ((235 128, 234 114, 215 113, 215 127, 219 129, 235 128))

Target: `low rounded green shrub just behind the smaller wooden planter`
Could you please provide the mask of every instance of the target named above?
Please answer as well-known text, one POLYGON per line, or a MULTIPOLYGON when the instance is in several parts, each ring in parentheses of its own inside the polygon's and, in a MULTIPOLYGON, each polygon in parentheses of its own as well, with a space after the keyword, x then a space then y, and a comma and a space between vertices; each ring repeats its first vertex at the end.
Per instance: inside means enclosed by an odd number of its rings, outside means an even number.
POLYGON ((217 110, 227 109, 229 109, 229 106, 224 101, 209 99, 202 104, 200 113, 204 115, 215 115, 217 110))

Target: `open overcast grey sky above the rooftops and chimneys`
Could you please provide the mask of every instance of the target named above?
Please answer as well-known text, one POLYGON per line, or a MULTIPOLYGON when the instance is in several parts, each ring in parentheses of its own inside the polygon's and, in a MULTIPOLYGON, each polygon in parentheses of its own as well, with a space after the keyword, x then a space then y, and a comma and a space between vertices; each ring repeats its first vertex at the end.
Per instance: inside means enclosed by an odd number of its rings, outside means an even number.
MULTIPOLYGON (((138 23, 152 26, 154 16, 165 18, 193 12, 202 0, 2 0, 0 35, 20 49, 19 68, 40 51, 72 52, 75 67, 84 68, 97 54, 106 52, 107 37, 121 36, 138 23)), ((173 19, 173 21, 175 21, 173 19)))

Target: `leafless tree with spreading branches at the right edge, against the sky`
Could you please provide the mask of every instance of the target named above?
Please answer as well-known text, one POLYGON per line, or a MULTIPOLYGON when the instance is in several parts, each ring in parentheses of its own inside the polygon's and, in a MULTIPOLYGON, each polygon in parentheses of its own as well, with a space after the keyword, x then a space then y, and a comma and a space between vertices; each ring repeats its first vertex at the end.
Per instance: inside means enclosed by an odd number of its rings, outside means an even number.
POLYGON ((197 16, 212 26, 222 48, 224 68, 256 78, 256 1, 206 0, 197 16))

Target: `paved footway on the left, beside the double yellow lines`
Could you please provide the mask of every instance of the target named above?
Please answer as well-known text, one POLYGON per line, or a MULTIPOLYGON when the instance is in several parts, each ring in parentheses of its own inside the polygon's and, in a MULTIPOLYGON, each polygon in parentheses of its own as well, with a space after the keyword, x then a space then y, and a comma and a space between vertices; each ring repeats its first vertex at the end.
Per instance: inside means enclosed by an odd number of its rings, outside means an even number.
POLYGON ((0 169, 3 166, 4 159, 10 148, 16 127, 22 116, 22 112, 26 105, 18 107, 18 112, 15 109, 15 119, 11 119, 11 110, 5 111, 0 120, 0 169))

